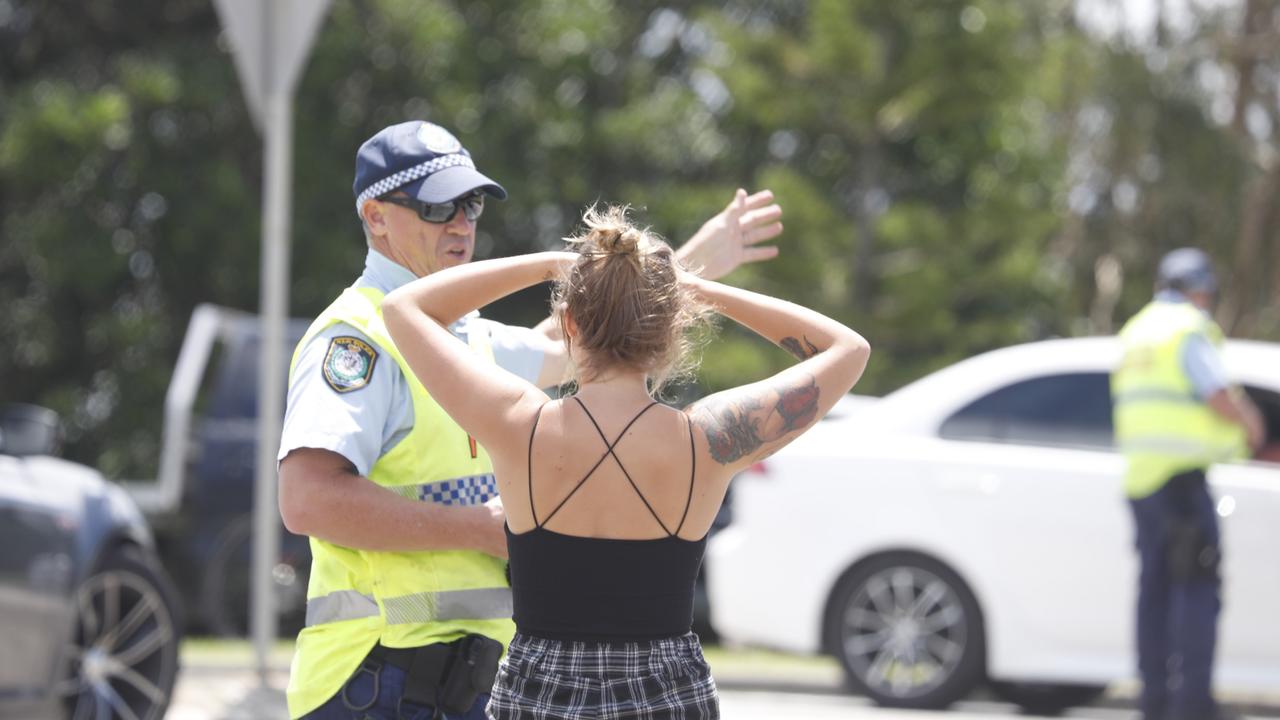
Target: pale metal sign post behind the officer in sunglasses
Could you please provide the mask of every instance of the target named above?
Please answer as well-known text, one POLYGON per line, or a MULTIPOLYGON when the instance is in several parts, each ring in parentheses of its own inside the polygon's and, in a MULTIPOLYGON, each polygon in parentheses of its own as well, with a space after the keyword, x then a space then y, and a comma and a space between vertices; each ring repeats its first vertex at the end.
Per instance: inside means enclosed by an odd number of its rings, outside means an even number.
MULTIPOLYGON (((264 19, 274 23, 278 4, 264 19)), ((270 28, 268 28, 270 31, 270 28)), ((271 83, 265 104, 262 159, 262 332, 257 388, 257 482, 253 488, 252 616, 259 683, 268 687, 268 656, 276 635, 271 570, 280 555, 275 455, 284 419, 284 318, 288 315, 289 206, 293 149, 291 88, 271 83)))

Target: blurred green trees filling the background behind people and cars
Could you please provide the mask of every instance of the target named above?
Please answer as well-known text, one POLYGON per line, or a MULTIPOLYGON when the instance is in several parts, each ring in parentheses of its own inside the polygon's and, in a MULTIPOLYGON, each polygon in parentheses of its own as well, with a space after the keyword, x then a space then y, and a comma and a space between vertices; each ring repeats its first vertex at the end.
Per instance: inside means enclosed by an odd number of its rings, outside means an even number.
MULTIPOLYGON (((1068 0, 334 0, 296 99, 292 311, 362 265, 356 147, 426 118, 512 193, 480 256, 553 247, 596 200, 678 242, 772 188, 782 256, 731 281, 863 331, 860 392, 1112 332, 1179 245, 1219 260, 1233 334, 1276 340, 1277 36, 1276 0, 1146 41, 1068 0)), ((257 305, 261 158, 209 0, 0 0, 0 401, 154 473, 192 309, 257 305)), ((787 361, 723 327, 686 389, 787 361)))

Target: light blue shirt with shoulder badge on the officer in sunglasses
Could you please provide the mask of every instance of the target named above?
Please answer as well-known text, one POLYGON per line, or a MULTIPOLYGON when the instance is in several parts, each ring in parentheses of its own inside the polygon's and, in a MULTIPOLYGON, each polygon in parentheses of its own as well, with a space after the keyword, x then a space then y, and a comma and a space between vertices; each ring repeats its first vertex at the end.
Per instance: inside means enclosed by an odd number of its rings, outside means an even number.
MULTIPOLYGON (((413 273, 397 265, 385 255, 370 250, 365 272, 353 287, 372 287, 384 293, 415 279, 413 273)), ((472 328, 489 331, 494 360, 506 370, 538 382, 543 368, 545 337, 530 328, 516 328, 480 318, 471 313, 449 327, 456 337, 467 341, 472 328)), ((289 383, 280 452, 276 461, 300 447, 330 450, 349 460, 361 475, 369 475, 374 462, 396 447, 413 429, 413 400, 408 383, 393 361, 375 363, 372 377, 365 387, 346 393, 335 392, 324 379, 324 360, 335 337, 349 336, 374 345, 348 325, 338 323, 316 334, 298 355, 298 364, 289 383)), ((374 345, 376 347, 376 345, 374 345)))

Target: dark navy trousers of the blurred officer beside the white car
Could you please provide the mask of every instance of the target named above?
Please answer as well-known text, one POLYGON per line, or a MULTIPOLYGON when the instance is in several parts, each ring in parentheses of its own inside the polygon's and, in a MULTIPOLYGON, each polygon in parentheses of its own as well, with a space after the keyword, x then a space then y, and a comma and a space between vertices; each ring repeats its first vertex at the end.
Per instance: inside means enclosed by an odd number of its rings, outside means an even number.
POLYGON ((1213 648, 1221 609, 1217 564, 1176 578, 1170 544, 1176 528, 1194 523, 1207 552, 1217 552, 1219 528, 1204 471, 1170 478, 1156 493, 1132 500, 1138 530, 1138 671, 1144 720, 1206 720, 1212 696, 1213 648))

